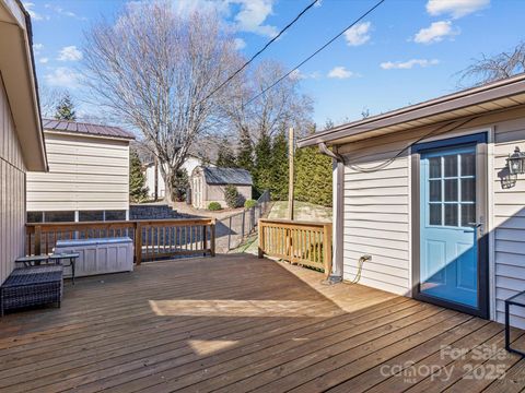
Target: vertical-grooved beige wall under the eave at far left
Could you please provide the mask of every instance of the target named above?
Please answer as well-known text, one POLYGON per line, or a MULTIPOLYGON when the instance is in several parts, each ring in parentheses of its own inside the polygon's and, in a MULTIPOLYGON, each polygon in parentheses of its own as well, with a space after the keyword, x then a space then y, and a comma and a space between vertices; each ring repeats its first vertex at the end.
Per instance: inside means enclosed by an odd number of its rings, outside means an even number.
POLYGON ((24 254, 25 165, 0 78, 0 284, 24 254))

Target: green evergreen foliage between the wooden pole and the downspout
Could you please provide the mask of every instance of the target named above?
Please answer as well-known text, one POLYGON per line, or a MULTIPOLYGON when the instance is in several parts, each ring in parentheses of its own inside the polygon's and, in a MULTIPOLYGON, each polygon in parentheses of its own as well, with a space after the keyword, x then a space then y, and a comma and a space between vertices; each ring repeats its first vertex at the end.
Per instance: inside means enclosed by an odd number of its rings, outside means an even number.
POLYGON ((295 154, 296 201, 331 206, 331 158, 315 147, 299 148, 295 154))

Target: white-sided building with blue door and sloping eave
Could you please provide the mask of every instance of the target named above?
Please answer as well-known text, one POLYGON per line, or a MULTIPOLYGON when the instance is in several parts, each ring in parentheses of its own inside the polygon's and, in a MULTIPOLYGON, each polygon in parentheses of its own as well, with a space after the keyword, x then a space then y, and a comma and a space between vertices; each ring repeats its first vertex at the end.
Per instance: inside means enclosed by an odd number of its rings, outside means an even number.
MULTIPOLYGON (((508 164, 525 151, 525 74, 299 145, 334 157, 334 279, 361 273, 360 284, 503 321, 504 300, 525 290, 525 174, 508 164)), ((525 327, 524 310, 511 313, 525 327)))

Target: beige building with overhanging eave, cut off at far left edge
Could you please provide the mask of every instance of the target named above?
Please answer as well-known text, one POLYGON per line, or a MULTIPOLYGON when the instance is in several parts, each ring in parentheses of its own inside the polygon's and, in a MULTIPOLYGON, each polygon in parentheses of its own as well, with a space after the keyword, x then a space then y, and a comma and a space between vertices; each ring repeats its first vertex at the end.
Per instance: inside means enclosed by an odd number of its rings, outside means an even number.
POLYGON ((0 0, 0 284, 25 254, 25 174, 46 168, 31 19, 0 0))

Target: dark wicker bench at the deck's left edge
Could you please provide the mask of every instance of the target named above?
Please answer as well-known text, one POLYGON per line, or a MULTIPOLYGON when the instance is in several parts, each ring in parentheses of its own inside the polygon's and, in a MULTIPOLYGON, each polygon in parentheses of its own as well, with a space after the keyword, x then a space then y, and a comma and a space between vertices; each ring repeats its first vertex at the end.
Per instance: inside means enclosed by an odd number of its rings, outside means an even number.
POLYGON ((63 266, 40 265, 15 269, 0 287, 0 315, 21 307, 57 303, 63 293, 63 266))

